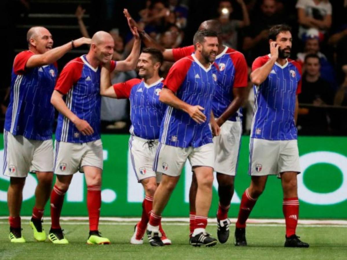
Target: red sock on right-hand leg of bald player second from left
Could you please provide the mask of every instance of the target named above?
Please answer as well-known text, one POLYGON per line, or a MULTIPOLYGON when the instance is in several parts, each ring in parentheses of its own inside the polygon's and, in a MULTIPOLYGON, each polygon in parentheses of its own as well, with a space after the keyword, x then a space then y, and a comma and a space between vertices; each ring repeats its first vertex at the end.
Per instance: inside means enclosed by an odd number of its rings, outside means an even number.
POLYGON ((99 228, 101 208, 101 186, 87 186, 87 208, 89 215, 89 230, 97 231, 99 228))

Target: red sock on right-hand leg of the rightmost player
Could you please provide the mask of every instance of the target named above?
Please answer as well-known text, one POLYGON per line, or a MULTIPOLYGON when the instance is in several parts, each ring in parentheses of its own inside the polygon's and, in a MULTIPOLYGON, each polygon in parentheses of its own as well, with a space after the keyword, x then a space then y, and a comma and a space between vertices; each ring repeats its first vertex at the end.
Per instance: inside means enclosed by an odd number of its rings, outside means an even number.
POLYGON ((283 215, 286 219, 286 236, 294 235, 299 218, 298 198, 283 199, 283 215))

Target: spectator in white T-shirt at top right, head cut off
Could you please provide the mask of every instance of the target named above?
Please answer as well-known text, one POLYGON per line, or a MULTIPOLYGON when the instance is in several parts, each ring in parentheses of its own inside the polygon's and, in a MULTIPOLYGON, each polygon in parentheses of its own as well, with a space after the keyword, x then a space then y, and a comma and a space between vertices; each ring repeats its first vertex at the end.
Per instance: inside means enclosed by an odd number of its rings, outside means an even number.
POLYGON ((319 30, 319 38, 323 40, 324 34, 331 27, 331 4, 328 0, 298 0, 298 23, 300 39, 305 39, 307 30, 316 28, 319 30))

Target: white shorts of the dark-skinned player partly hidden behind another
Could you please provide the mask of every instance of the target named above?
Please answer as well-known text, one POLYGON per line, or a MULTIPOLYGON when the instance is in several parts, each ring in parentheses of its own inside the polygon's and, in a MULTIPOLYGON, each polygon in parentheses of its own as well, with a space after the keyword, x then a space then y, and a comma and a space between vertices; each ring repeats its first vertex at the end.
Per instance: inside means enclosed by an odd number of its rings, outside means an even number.
POLYGON ((220 135, 213 137, 216 172, 236 175, 241 136, 241 122, 226 121, 220 128, 220 135))

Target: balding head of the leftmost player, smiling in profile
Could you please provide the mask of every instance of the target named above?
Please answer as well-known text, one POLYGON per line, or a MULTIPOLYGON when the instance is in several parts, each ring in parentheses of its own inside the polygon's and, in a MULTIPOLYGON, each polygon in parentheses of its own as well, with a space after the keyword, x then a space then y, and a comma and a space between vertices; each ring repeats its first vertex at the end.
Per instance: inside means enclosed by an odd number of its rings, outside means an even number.
POLYGON ((49 30, 44 27, 37 27, 29 38, 29 44, 33 46, 39 54, 43 54, 52 49, 53 38, 49 30))

